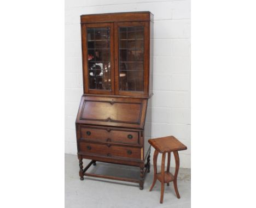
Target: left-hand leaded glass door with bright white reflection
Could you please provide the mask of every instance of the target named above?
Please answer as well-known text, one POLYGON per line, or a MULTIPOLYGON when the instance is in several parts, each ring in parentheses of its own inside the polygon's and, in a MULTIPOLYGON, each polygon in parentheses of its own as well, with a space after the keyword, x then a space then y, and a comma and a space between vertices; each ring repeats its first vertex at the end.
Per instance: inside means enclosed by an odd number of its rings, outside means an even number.
POLYGON ((114 25, 82 24, 84 93, 114 94, 114 25))

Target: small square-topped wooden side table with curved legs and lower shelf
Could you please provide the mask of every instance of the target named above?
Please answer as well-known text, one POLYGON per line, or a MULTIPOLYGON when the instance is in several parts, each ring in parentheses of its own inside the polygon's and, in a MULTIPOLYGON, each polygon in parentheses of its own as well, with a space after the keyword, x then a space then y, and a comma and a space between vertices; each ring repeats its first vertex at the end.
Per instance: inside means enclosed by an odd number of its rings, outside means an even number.
POLYGON ((153 183, 152 183, 152 186, 150 187, 149 191, 152 191, 153 187, 155 186, 156 179, 158 179, 161 182, 160 203, 162 203, 162 200, 164 199, 165 183, 167 183, 167 186, 169 186, 169 182, 173 181, 176 195, 178 198, 181 198, 179 196, 179 191, 178 191, 178 187, 177 187, 177 176, 178 176, 178 172, 179 172, 178 151, 187 150, 187 146, 185 146, 184 144, 179 142, 179 140, 173 136, 149 139, 148 142, 155 148, 154 157, 153 157, 154 179, 153 179, 153 183), (162 153, 162 163, 161 163, 161 172, 157 173, 156 161, 158 159, 159 152, 162 153), (166 152, 168 154, 168 160, 167 160, 167 170, 165 171, 166 152), (170 173, 171 152, 173 152, 173 155, 175 158, 174 176, 170 173))

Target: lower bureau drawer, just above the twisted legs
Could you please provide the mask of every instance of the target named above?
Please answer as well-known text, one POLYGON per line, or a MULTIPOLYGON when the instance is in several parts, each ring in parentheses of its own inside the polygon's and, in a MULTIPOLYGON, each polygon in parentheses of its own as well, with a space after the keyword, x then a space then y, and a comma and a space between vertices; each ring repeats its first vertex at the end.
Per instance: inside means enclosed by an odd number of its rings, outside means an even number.
POLYGON ((141 148, 133 148, 129 146, 79 142, 79 151, 98 156, 141 159, 141 148))

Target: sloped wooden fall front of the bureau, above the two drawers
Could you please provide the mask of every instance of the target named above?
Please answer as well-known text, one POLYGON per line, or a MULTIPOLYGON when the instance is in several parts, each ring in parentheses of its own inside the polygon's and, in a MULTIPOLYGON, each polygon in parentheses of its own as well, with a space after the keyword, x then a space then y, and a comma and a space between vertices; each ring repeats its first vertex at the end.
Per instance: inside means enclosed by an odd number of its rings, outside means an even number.
POLYGON ((146 99, 83 96, 77 123, 143 129, 146 99))

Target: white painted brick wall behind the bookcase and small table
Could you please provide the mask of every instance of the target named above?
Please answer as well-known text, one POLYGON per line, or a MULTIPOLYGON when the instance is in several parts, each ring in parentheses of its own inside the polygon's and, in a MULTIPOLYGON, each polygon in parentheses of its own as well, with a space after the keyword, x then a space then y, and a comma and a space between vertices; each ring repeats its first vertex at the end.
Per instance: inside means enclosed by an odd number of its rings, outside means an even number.
MULTIPOLYGON (((190 1, 187 0, 65 1, 65 152, 77 153, 74 121, 83 94, 80 15, 124 11, 154 14, 152 137, 173 135, 181 140, 188 146, 188 150, 179 152, 181 167, 190 168, 190 1)), ((159 164, 160 160, 161 157, 159 164)))

